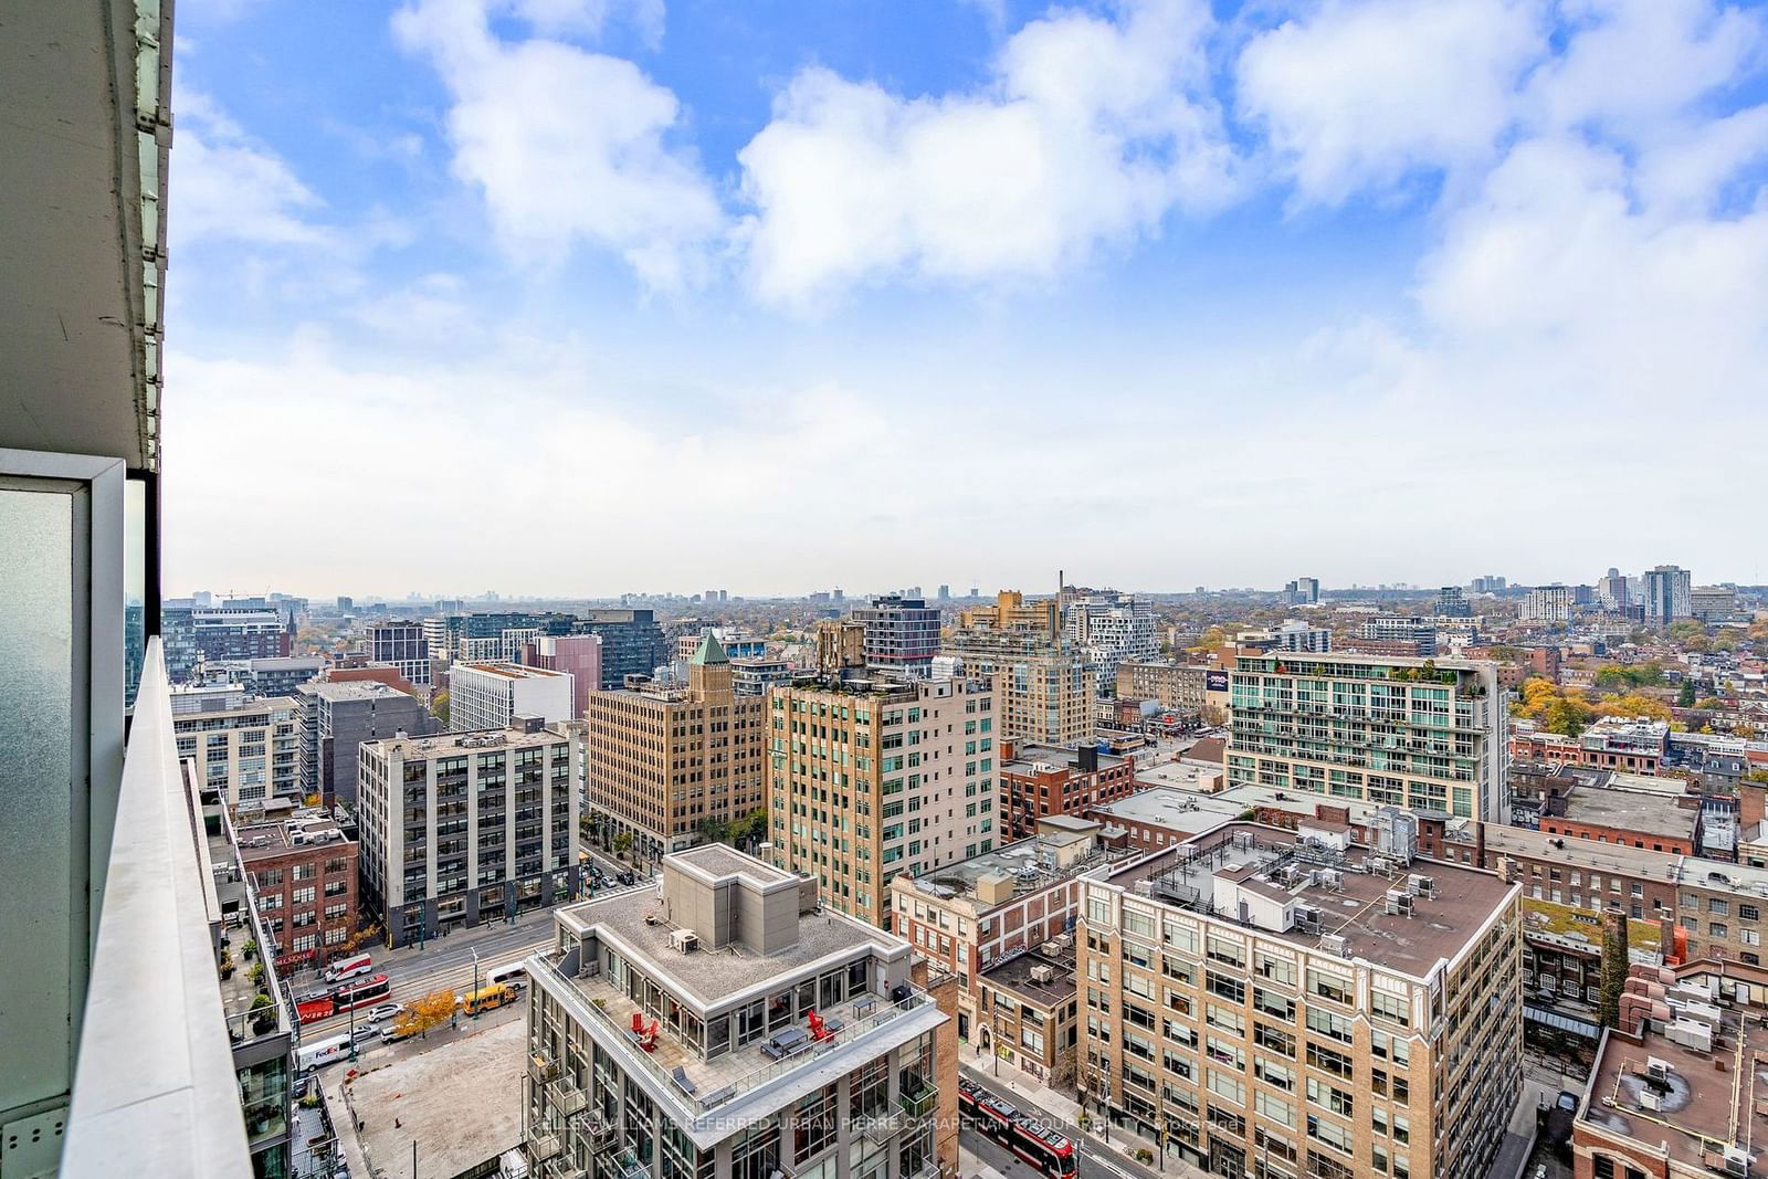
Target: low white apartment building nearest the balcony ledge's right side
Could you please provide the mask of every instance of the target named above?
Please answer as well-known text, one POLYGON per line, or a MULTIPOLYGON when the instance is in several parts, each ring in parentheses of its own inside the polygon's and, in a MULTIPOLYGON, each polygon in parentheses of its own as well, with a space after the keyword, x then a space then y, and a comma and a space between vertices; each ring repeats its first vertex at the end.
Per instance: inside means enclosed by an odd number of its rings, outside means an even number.
POLYGON ((301 797, 301 723, 292 698, 184 712, 171 732, 179 757, 196 758, 196 772, 228 806, 301 797))

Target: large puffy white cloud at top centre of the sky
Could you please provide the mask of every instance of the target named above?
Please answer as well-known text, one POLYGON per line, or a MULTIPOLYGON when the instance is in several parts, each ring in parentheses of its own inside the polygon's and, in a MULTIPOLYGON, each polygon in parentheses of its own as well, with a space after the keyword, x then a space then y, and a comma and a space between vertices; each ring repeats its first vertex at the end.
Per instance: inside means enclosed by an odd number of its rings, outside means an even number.
POLYGON ((1057 12, 1018 30, 979 94, 905 99, 806 69, 739 152, 753 292, 808 306, 893 274, 1045 278, 1174 207, 1234 194, 1208 99, 1208 5, 1057 12))

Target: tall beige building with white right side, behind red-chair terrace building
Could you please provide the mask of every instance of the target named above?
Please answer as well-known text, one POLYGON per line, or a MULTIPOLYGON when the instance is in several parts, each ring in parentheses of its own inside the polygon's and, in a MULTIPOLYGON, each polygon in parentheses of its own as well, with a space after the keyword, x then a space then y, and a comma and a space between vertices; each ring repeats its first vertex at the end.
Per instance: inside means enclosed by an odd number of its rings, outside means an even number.
POLYGON ((766 723, 766 856, 813 875, 838 912, 889 930, 891 877, 997 838, 987 682, 812 677, 774 686, 766 723))

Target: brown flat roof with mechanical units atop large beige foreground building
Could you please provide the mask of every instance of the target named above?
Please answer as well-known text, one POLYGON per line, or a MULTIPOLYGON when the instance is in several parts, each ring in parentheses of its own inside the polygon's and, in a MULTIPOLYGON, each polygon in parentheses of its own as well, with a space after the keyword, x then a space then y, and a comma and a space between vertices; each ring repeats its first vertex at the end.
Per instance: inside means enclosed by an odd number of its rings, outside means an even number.
POLYGON ((1351 845, 1342 856, 1321 856, 1298 843, 1298 833, 1282 827, 1229 824, 1103 879, 1130 893, 1229 921, 1236 917, 1216 909, 1218 882, 1280 901, 1294 900, 1319 914, 1319 928, 1259 926, 1261 933, 1307 949, 1319 949, 1322 937, 1338 935, 1345 939, 1344 958, 1363 958, 1416 979, 1437 962, 1453 958, 1515 887, 1496 873, 1434 859, 1416 859, 1390 879, 1370 870, 1370 861, 1379 859, 1370 848, 1351 845), (1330 870, 1337 879, 1314 884, 1315 877, 1301 871, 1298 884, 1273 880, 1273 870, 1285 864, 1330 870), (1390 914, 1386 896, 1406 887, 1407 873, 1430 877, 1432 893, 1413 898, 1411 916, 1390 914))

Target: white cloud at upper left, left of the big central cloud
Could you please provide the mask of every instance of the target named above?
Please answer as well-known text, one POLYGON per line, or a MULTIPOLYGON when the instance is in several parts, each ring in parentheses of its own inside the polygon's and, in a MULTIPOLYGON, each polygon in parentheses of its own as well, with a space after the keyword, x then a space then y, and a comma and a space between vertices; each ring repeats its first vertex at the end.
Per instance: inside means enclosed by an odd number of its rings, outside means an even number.
MULTIPOLYGON (((568 5, 523 7, 560 19, 568 5)), ((681 122, 670 90, 562 41, 500 41, 476 0, 421 0, 394 28, 449 87, 454 173, 484 193, 507 253, 546 263, 587 244, 652 288, 695 279, 723 214, 693 159, 665 141, 681 122)))

